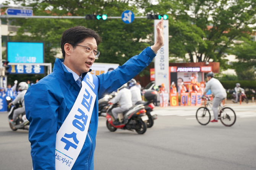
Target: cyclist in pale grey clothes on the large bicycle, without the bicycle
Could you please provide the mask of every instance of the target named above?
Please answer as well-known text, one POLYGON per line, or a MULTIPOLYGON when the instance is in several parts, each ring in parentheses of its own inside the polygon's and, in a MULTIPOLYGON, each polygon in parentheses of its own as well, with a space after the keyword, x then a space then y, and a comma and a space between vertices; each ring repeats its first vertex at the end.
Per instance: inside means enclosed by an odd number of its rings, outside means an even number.
POLYGON ((214 73, 210 72, 206 75, 207 83, 206 87, 204 89, 204 95, 207 93, 207 91, 210 89, 212 91, 212 94, 214 95, 213 103, 212 103, 212 111, 214 114, 214 119, 211 122, 218 122, 218 107, 220 105, 220 102, 224 100, 227 97, 227 92, 220 83, 219 80, 214 78, 214 73))

